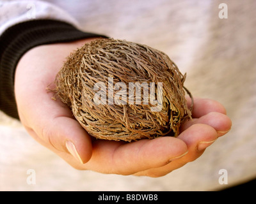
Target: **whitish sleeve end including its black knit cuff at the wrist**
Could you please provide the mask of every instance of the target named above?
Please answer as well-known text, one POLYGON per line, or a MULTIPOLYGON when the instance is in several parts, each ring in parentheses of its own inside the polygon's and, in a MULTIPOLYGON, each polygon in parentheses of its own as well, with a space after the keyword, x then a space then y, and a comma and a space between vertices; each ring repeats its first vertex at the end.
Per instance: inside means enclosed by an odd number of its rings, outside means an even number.
POLYGON ((77 28, 74 19, 70 18, 69 20, 65 11, 60 11, 51 4, 42 3, 41 10, 40 4, 36 4, 36 8, 40 11, 36 14, 36 18, 28 19, 28 17, 22 17, 25 15, 24 11, 28 11, 26 7, 28 2, 17 3, 20 9, 17 9, 17 4, 14 3, 0 4, 0 110, 10 117, 19 119, 14 95, 14 75, 17 63, 25 52, 38 45, 83 38, 108 37, 81 31, 77 28), (10 10, 10 6, 13 5, 16 6, 17 15, 14 15, 13 11, 12 14, 8 15, 6 10, 10 10), (24 10, 23 14, 21 10, 24 10), (54 13, 56 11, 60 11, 58 17, 54 13), (51 15, 51 13, 54 14, 51 15), (9 17, 10 20, 3 20, 2 15, 9 17), (51 18, 45 18, 46 16, 51 18), (61 18, 62 16, 63 18, 61 18))

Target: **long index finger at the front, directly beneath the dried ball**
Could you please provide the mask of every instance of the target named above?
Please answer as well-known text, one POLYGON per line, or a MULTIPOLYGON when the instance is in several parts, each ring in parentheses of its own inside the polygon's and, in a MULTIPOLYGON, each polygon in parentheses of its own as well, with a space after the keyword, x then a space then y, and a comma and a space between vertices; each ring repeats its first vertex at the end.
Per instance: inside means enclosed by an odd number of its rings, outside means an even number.
POLYGON ((131 143, 97 140, 93 145, 92 159, 86 165, 104 173, 131 175, 163 166, 187 150, 186 143, 169 136, 131 143))

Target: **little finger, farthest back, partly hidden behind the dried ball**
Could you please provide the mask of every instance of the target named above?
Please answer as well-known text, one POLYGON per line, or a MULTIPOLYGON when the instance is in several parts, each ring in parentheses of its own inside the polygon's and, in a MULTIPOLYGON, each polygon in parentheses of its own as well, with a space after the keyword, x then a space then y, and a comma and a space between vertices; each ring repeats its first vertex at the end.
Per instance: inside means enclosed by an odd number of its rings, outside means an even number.
MULTIPOLYGON (((191 105, 191 99, 186 98, 188 106, 191 105)), ((206 115, 210 112, 219 112, 226 114, 226 109, 221 103, 218 101, 214 101, 212 99, 202 99, 202 98, 194 98, 194 105, 193 105, 193 111, 192 111, 192 117, 193 118, 199 118, 203 115, 206 115)))

